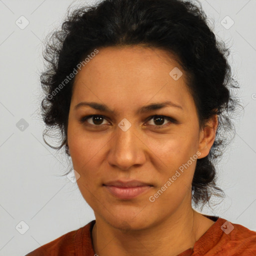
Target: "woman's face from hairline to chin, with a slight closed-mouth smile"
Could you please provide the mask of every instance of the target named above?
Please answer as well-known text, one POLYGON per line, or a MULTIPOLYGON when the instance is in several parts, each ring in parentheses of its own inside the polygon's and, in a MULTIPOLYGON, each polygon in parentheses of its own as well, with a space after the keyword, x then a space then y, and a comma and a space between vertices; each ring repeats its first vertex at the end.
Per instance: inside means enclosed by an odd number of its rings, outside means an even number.
POLYGON ((176 79, 169 74, 174 67, 182 71, 160 49, 107 47, 76 74, 67 142, 78 187, 96 219, 143 229, 191 204, 196 158, 204 157, 209 146, 185 73, 176 79), (145 108, 165 101, 171 103, 145 108), (114 180, 147 185, 141 191, 105 185, 114 180))

